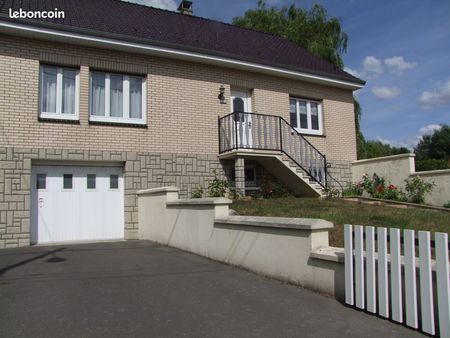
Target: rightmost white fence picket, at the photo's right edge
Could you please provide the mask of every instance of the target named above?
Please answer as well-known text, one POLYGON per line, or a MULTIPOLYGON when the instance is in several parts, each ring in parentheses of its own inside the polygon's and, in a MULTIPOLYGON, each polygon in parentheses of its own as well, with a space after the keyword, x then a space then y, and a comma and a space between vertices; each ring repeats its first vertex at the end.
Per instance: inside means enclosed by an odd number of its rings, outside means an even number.
POLYGON ((448 235, 436 232, 436 286, 441 338, 450 338, 450 283, 448 263, 448 235))

